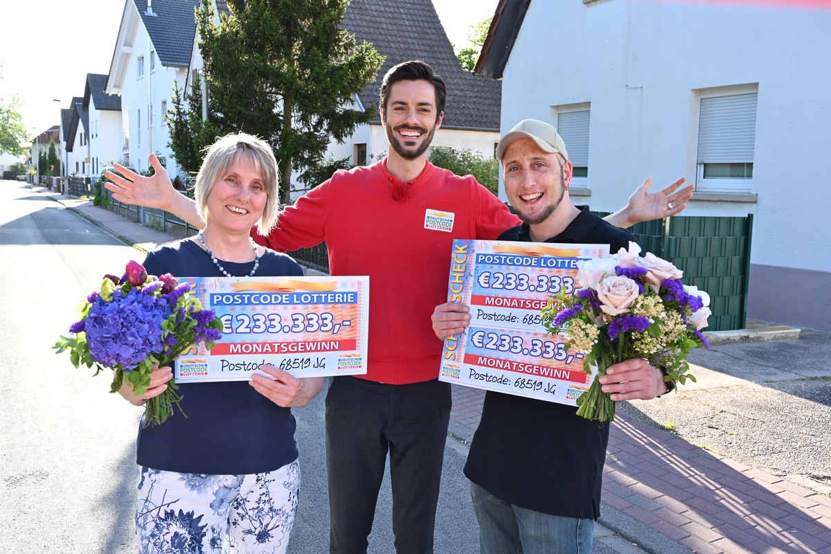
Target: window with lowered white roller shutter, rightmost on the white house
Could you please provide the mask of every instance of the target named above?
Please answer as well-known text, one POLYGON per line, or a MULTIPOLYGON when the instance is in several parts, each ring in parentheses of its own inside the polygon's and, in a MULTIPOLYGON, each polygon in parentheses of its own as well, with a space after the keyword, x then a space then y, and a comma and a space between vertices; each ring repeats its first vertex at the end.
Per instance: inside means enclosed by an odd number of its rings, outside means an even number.
POLYGON ((758 96, 758 91, 747 87, 733 94, 701 94, 697 190, 741 193, 752 189, 758 96))

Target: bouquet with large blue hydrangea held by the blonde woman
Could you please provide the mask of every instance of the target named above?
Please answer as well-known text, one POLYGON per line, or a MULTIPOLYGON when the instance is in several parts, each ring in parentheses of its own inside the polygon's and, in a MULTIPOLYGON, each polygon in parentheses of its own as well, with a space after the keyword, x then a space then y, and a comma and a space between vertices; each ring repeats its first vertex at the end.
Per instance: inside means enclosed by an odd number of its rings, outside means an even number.
MULTIPOLYGON (((123 277, 107 275, 101 288, 86 297, 81 321, 69 332, 72 336, 61 336, 53 348, 70 351, 72 365, 95 365, 95 375, 104 368, 114 370, 111 393, 126 381, 135 395, 143 395, 154 365, 171 365, 199 342, 213 348, 222 336, 222 322, 213 310, 203 309, 189 283, 177 282, 170 273, 147 275, 140 263, 131 261, 123 277)), ((174 405, 184 415, 179 387, 175 380, 167 385, 164 393, 146 401, 145 425, 164 423, 174 405)))

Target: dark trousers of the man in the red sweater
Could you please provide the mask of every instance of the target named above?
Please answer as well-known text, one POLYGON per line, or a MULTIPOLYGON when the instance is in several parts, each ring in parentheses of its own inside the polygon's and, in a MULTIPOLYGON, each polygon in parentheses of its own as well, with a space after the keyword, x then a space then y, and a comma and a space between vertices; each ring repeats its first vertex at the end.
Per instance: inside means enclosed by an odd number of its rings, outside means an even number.
POLYGON ((366 552, 388 452, 396 552, 433 552, 451 402, 450 385, 438 380, 332 380, 326 397, 329 552, 366 552))

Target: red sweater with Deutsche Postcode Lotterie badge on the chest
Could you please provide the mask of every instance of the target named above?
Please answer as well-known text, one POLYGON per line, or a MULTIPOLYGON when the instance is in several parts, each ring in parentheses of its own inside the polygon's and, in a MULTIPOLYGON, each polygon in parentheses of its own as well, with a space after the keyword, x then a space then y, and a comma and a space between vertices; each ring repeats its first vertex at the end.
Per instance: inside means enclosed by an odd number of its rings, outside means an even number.
POLYGON ((338 171, 286 208, 268 237, 254 237, 281 252, 326 241, 332 275, 368 275, 369 360, 357 376, 402 385, 438 378, 442 343, 430 315, 447 301, 453 239, 495 239, 517 224, 470 175, 427 162, 403 184, 383 159, 338 171), (452 213, 451 231, 425 228, 428 210, 444 213, 445 222, 452 213))

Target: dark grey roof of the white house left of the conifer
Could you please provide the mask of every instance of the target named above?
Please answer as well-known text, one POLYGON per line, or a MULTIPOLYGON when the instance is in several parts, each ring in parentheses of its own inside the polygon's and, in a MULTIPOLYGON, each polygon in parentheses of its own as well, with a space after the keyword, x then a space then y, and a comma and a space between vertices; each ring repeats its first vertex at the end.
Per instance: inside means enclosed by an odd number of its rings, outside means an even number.
POLYGON ((188 67, 196 36, 194 8, 199 0, 152 0, 152 14, 147 0, 133 0, 161 65, 188 67))

